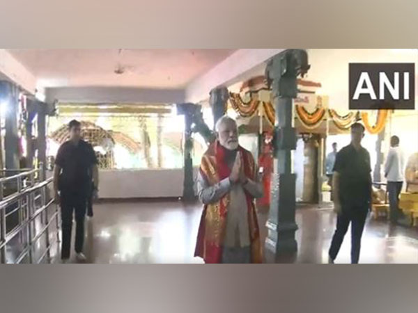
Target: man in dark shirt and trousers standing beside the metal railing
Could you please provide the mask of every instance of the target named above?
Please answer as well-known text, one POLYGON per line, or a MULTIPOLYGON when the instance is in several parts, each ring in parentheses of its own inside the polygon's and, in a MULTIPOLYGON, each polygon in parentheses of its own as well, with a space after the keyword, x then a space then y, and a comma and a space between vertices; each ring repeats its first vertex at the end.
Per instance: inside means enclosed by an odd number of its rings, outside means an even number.
POLYGON ((81 138, 81 124, 72 120, 68 125, 70 140, 59 147, 54 166, 54 191, 56 203, 61 204, 62 243, 61 259, 67 263, 70 258, 72 212, 77 223, 75 252, 77 260, 85 261, 84 216, 86 202, 93 180, 98 191, 98 161, 93 147, 81 138))

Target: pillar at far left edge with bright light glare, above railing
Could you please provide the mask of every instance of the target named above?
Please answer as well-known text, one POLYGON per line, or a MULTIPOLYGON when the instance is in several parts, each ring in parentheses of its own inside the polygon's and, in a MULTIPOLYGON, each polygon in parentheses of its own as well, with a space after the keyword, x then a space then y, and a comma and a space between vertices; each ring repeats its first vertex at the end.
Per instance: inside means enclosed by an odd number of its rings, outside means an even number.
POLYGON ((19 136, 17 134, 17 110, 19 106, 19 90, 9 81, 0 81, 1 102, 5 106, 6 136, 4 150, 6 152, 6 168, 19 168, 19 136))

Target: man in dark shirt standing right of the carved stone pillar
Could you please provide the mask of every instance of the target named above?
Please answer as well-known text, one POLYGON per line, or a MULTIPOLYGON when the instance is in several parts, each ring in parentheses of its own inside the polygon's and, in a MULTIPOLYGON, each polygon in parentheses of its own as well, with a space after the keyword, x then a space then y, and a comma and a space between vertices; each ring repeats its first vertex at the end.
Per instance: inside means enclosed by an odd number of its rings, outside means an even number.
POLYGON ((351 263, 359 262, 364 223, 371 205, 370 155, 360 144, 363 137, 364 126, 355 123, 351 127, 350 145, 336 154, 332 191, 338 217, 329 251, 330 263, 334 263, 350 223, 351 263))

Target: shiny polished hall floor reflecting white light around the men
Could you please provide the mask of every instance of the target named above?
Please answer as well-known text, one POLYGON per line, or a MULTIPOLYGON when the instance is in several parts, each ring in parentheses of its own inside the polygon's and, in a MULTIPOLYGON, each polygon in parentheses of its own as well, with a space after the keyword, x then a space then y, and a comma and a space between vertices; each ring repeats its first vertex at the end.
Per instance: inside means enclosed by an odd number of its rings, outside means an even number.
MULTIPOLYGON (((87 263, 202 263, 194 258, 201 205, 179 201, 132 201, 95 204, 86 220, 87 263)), ((261 234, 267 214, 260 214, 261 234)), ((326 263, 334 232, 330 205, 299 206, 296 220, 297 263, 326 263)), ((73 253, 73 252, 72 252, 73 253)), ((52 252, 59 262, 58 249, 52 252)), ((72 257, 72 262, 75 262, 72 257)), ((336 263, 350 263, 350 230, 336 263)), ((390 226, 368 218, 360 263, 418 263, 418 229, 390 226)))

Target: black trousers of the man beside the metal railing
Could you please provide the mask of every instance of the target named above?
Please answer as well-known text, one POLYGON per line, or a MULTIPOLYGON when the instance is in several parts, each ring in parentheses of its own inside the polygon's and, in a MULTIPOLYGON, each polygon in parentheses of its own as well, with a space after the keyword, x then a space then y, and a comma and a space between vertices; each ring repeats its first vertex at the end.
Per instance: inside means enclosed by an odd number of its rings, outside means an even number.
POLYGON ((84 216, 86 215, 86 193, 70 193, 61 191, 61 259, 70 257, 72 214, 75 213, 75 252, 83 250, 84 245, 84 216))

